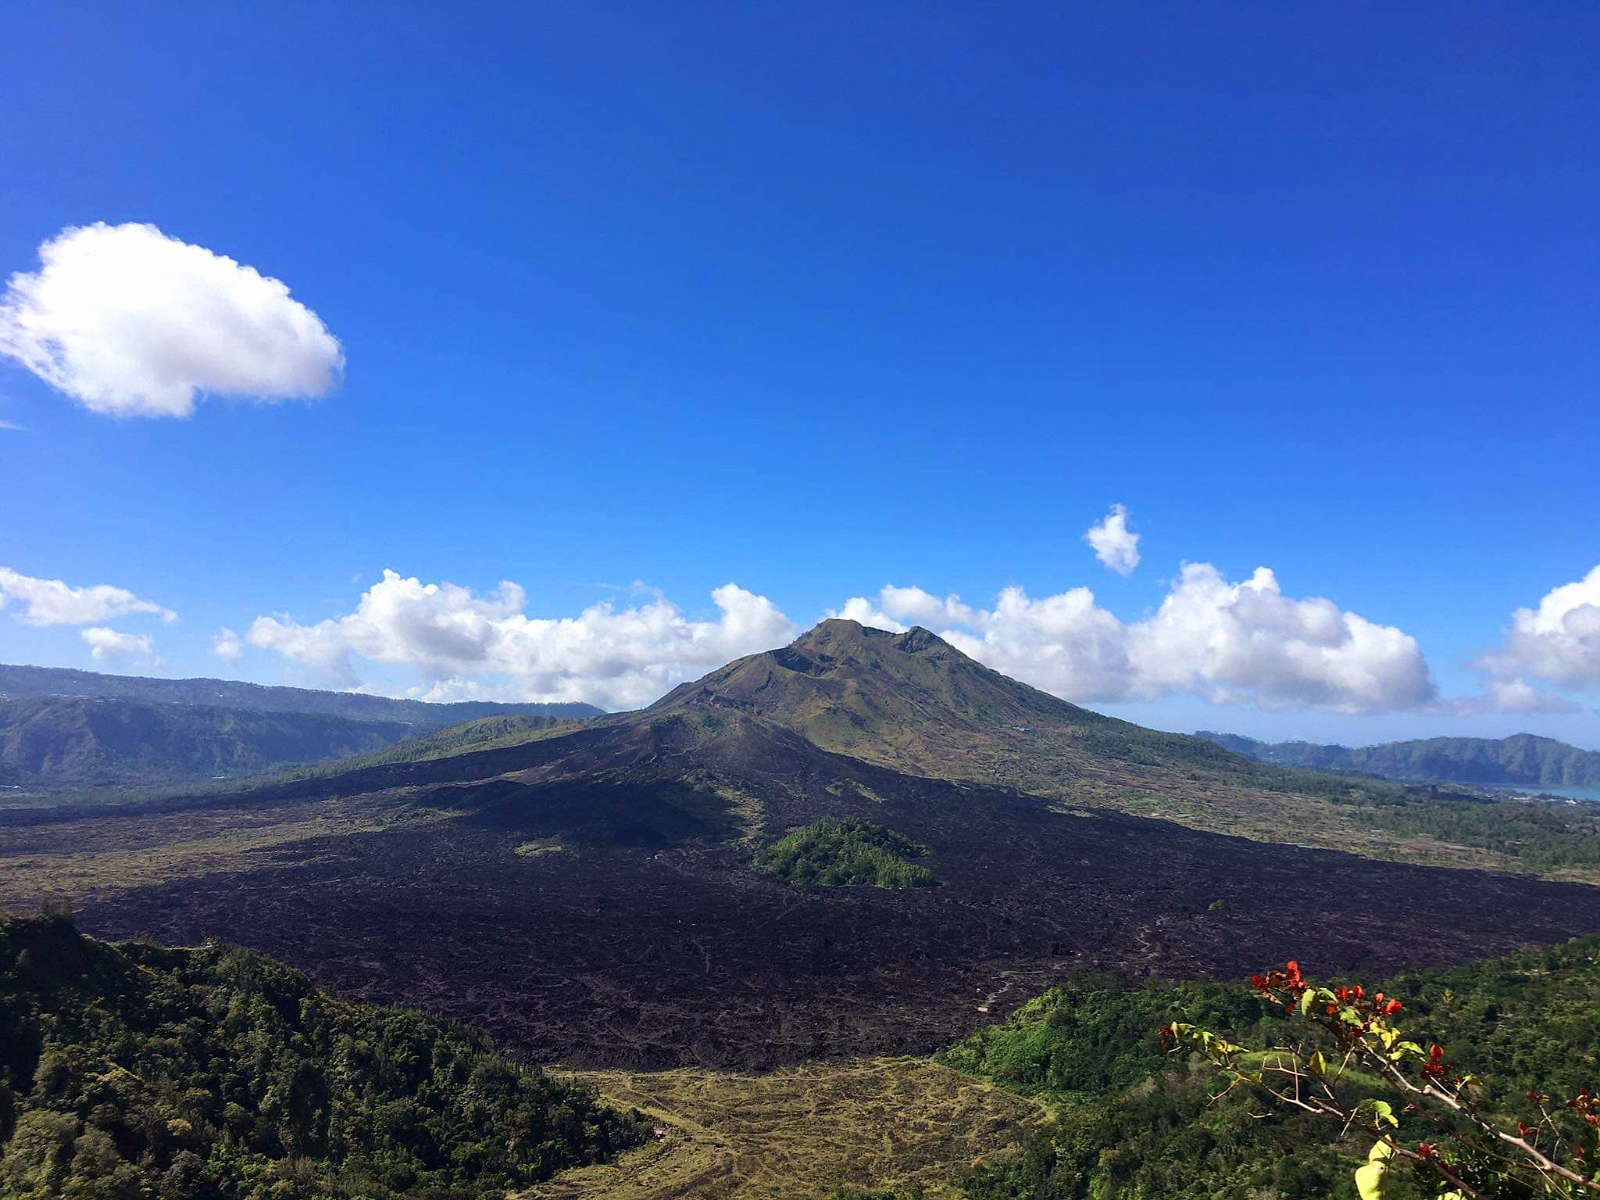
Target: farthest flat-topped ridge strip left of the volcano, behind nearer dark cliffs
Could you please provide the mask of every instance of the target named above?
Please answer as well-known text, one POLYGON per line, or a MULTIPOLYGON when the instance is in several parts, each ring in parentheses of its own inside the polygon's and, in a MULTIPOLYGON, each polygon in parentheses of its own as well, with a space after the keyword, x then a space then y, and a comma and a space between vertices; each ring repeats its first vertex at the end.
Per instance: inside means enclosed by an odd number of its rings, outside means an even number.
POLYGON ((354 691, 272 688, 226 678, 99 675, 93 670, 72 670, 69 667, 0 666, 0 696, 102 696, 147 704, 208 704, 218 709, 250 709, 253 712, 318 712, 350 720, 405 722, 413 733, 514 712, 539 717, 594 717, 600 714, 594 704, 491 704, 490 701, 430 704, 427 701, 390 699, 389 696, 363 696, 354 691))

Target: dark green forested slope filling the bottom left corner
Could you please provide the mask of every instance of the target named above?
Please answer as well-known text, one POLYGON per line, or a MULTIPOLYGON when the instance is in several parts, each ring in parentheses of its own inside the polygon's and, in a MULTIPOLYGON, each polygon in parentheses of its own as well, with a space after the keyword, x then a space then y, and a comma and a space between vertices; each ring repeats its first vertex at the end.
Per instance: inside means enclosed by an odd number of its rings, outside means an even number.
POLYGON ((477 1034, 221 942, 0 918, 0 1195, 467 1200, 648 1125, 477 1034))

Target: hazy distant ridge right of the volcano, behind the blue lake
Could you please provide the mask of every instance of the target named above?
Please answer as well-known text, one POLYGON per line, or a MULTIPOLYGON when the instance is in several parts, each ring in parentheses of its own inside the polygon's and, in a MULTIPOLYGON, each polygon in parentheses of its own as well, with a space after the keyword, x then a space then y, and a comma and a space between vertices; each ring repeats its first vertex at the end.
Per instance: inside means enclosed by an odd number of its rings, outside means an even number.
POLYGON ((1600 787, 1600 752, 1581 750, 1531 733, 1512 738, 1424 738, 1357 747, 1261 742, 1210 731, 1197 736, 1261 763, 1371 774, 1411 784, 1600 787))

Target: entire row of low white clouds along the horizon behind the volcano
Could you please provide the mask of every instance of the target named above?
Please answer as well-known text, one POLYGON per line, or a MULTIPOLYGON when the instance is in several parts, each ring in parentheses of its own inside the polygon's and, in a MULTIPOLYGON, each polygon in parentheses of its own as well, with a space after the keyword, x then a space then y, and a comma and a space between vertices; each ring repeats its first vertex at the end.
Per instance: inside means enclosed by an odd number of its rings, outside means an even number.
MULTIPOLYGON (((486 595, 386 570, 355 608, 301 624, 259 616, 243 634, 221 629, 211 653, 238 664, 250 650, 317 672, 326 685, 379 691, 362 662, 416 672, 398 694, 424 699, 650 704, 730 659, 790 642, 800 622, 773 600, 728 582, 710 594, 717 616, 691 619, 635 586, 632 603, 598 603, 571 618, 526 613, 526 594, 501 582, 486 595)), ((125 587, 74 586, 0 566, 0 613, 26 626, 77 626, 96 662, 157 662, 154 638, 107 626, 178 614, 125 587)), ((1512 613, 1483 653, 1482 693, 1442 699, 1414 637, 1322 597, 1283 594, 1266 566, 1229 581, 1186 563, 1154 613, 1122 621, 1088 587, 1030 597, 1006 587, 992 606, 885 586, 829 616, 906 630, 925 626, 1006 675, 1078 704, 1192 696, 1264 710, 1338 714, 1578 712, 1600 691, 1600 566, 1512 613)))

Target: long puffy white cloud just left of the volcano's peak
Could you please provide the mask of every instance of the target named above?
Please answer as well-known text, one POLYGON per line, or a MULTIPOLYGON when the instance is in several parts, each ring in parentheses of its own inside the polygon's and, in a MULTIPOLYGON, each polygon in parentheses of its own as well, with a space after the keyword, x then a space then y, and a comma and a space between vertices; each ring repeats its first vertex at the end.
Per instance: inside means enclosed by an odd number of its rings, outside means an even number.
POLYGON ((352 659, 416 669, 427 699, 494 698, 648 704, 685 678, 790 640, 797 629, 765 597, 726 584, 712 592, 717 621, 690 621, 667 600, 576 618, 530 618, 526 595, 502 582, 490 595, 384 571, 354 613, 302 626, 262 616, 245 640, 360 686, 352 659), (499 682, 485 682, 485 680, 499 682))

